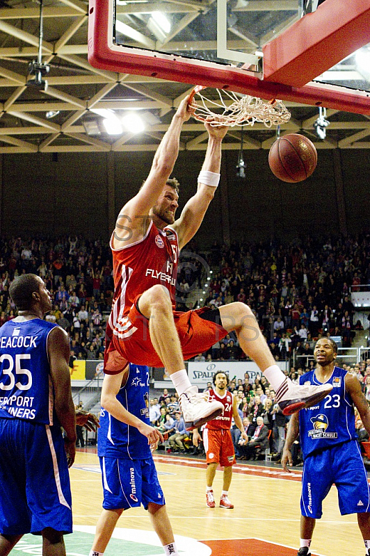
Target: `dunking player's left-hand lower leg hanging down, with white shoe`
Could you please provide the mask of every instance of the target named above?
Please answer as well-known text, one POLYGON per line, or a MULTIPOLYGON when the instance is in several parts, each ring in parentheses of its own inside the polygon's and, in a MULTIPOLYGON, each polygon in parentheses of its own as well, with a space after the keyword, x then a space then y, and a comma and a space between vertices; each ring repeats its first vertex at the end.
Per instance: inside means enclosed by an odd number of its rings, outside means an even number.
POLYGON ((202 395, 198 395, 198 387, 191 386, 188 379, 168 290, 158 285, 145 291, 138 300, 138 310, 149 321, 150 340, 154 350, 180 396, 186 430, 200 427, 220 415, 223 404, 205 400, 202 395))

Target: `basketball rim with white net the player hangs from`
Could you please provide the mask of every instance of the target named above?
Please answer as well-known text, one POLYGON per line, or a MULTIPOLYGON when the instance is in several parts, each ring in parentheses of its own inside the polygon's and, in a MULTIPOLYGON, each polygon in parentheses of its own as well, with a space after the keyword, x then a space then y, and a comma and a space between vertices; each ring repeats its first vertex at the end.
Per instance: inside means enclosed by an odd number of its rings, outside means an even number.
POLYGON ((197 85, 189 95, 188 104, 195 108, 195 120, 209 122, 211 126, 252 126, 255 122, 260 122, 271 127, 290 120, 291 115, 281 100, 264 102, 258 97, 241 97, 223 89, 216 89, 218 99, 212 100, 204 96, 204 89, 206 87, 197 85))

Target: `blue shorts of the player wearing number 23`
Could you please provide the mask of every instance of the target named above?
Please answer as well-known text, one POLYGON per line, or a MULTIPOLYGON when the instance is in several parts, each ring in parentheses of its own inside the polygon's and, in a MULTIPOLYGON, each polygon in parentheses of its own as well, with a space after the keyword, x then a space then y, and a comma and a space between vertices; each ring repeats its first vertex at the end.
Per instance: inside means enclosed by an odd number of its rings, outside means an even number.
POLYGON ((367 472, 357 441, 339 444, 305 459, 300 498, 303 516, 321 518, 323 499, 334 483, 342 516, 370 511, 367 472))

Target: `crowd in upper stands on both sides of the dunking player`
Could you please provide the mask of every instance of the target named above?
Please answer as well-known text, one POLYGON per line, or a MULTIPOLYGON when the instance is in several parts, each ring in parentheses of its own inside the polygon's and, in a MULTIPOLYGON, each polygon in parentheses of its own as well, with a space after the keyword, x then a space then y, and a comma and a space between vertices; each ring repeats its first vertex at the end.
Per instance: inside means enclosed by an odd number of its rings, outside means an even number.
MULTIPOLYGON (((0 325, 15 316, 8 295, 11 281, 25 272, 45 280, 54 299, 47 317, 70 334, 72 357, 102 359, 104 327, 113 296, 111 252, 107 242, 82 236, 1 239, 0 325)), ((275 359, 311 354, 320 335, 341 336, 351 346, 360 321, 353 322, 351 291, 370 284, 370 234, 314 238, 282 244, 277 240, 219 245, 207 251, 195 240, 182 254, 177 309, 188 309, 195 287, 206 292, 196 305, 217 308, 246 302, 259 322, 275 359)), ((243 359, 231 334, 200 360, 243 359)))

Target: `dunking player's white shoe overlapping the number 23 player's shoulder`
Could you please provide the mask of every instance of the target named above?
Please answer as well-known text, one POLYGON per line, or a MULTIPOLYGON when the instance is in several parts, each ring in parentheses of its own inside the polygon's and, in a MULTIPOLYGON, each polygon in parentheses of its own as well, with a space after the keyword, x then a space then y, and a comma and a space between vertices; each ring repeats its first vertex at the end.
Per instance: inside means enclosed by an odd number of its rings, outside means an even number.
POLYGON ((318 404, 330 391, 332 384, 300 385, 293 384, 291 379, 287 378, 276 391, 275 402, 278 402, 284 415, 292 415, 304 407, 318 404))

